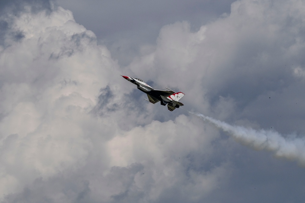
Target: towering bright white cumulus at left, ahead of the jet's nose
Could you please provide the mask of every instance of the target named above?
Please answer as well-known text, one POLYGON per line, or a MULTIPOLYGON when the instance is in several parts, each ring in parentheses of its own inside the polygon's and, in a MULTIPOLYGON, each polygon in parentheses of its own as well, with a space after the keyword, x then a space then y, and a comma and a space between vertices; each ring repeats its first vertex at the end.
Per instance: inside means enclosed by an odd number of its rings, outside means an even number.
POLYGON ((1 49, 1 194, 84 164, 92 147, 85 132, 99 122, 89 112, 116 66, 70 11, 31 9, 2 16, 13 22, 8 33, 24 37, 5 35, 1 49))

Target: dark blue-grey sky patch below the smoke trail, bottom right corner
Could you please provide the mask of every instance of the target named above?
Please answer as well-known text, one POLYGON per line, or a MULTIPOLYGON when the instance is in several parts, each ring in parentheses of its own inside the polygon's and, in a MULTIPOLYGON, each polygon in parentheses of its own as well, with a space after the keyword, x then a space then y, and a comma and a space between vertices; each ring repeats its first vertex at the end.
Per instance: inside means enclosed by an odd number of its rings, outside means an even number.
MULTIPOLYGON (((226 136, 226 135, 224 135, 226 136)), ((233 144, 233 140, 227 141, 233 144)), ((233 161, 231 181, 209 195, 209 202, 289 202, 303 201, 304 168, 293 162, 273 158, 268 152, 251 151, 244 146, 226 150, 233 161)), ((216 145, 215 147, 222 147, 216 145)))

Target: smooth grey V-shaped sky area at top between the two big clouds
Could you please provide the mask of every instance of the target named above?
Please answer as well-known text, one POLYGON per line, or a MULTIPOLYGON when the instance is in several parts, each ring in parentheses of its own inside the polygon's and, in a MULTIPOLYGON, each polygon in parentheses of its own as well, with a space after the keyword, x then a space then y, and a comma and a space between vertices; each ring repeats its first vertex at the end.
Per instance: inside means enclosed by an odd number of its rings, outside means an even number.
POLYGON ((187 20, 196 30, 223 13, 230 13, 234 0, 56 2, 70 9, 75 20, 92 30, 114 59, 125 66, 140 53, 142 44, 154 44, 162 26, 187 20))

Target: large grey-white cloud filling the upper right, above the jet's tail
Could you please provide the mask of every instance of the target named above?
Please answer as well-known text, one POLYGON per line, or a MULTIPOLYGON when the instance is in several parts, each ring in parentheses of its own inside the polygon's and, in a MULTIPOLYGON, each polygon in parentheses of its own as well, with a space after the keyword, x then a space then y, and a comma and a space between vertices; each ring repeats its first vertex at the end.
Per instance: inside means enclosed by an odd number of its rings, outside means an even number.
POLYGON ((302 6, 300 1, 236 1, 230 15, 198 31, 187 22, 164 26, 155 50, 129 67, 161 86, 175 85, 205 114, 212 113, 210 105, 219 96, 237 102, 242 111, 258 96, 299 81, 296 68, 304 67, 302 6))

